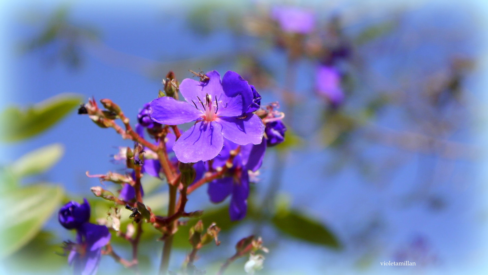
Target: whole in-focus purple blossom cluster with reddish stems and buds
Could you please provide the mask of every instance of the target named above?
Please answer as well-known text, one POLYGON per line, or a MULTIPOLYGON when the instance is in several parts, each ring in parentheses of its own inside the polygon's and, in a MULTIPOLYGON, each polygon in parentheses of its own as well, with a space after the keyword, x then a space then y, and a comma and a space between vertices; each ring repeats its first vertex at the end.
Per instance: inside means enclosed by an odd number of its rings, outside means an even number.
MULTIPOLYGON (((129 171, 124 175, 112 172, 88 175, 101 181, 119 183, 122 187, 119 195, 115 196, 100 186, 93 187, 92 191, 98 197, 132 210, 130 217, 136 223, 144 219, 156 228, 163 228, 164 232, 173 232, 173 221, 178 218, 201 212, 186 212, 184 206, 186 196, 204 183, 208 183, 207 193, 211 202, 221 203, 230 197, 230 219, 243 219, 247 212, 249 174, 254 174, 261 167, 266 148, 283 142, 285 138, 286 127, 281 121, 284 114, 275 110, 277 104, 262 108, 259 92, 238 73, 227 71, 222 79, 215 70, 197 75, 200 76, 199 81, 184 79, 180 84, 174 80, 174 75, 167 78, 165 91, 178 87, 184 101, 176 99, 177 93, 167 92, 167 96, 145 104, 137 116, 135 131, 120 108, 109 99, 101 102, 110 111, 110 117, 121 118, 125 131, 115 126, 113 118, 105 116, 106 112, 102 112, 94 100, 83 106, 97 125, 113 127, 124 138, 130 137, 135 142, 134 150, 121 148, 114 156, 115 160, 125 161, 129 171), (179 125, 185 123, 191 125, 182 134, 179 125), (141 179, 144 175, 165 179, 171 185, 169 193, 171 196, 173 191, 173 198, 176 191, 180 192, 178 206, 174 205, 171 211, 168 209, 167 216, 157 216, 150 212, 149 207, 143 210, 141 179), (145 213, 143 218, 142 212, 145 213)), ((175 200, 173 202, 176 203, 175 200)), ((89 217, 90 206, 86 200, 81 205, 69 202, 59 214, 63 227, 77 231, 77 242, 66 244, 70 252, 68 261, 74 265, 75 274, 96 273, 102 247, 110 240, 108 229, 90 224, 89 217)), ((139 227, 139 232, 142 232, 141 224, 139 227)), ((118 226, 116 228, 119 230, 118 226)), ((134 247, 137 246, 136 240, 132 240, 134 247)), ((107 249, 109 251, 111 246, 107 249)), ((137 260, 124 265, 137 265, 137 260)))

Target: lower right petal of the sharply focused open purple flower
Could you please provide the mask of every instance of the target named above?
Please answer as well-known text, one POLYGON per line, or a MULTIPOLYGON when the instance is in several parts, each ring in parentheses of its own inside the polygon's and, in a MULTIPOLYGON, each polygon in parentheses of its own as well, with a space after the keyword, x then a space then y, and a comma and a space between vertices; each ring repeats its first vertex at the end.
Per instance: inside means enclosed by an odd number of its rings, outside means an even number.
POLYGON ((264 124, 259 116, 247 114, 244 118, 220 117, 222 134, 239 145, 260 144, 263 140, 264 124))

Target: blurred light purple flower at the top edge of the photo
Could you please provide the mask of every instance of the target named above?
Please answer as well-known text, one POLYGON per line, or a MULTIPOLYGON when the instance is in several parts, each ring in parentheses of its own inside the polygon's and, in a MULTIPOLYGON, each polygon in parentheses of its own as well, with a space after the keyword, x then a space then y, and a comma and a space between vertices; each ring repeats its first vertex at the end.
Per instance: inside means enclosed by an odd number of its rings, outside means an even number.
POLYGON ((275 7, 271 17, 278 21, 285 32, 307 34, 315 27, 313 13, 298 7, 275 7))

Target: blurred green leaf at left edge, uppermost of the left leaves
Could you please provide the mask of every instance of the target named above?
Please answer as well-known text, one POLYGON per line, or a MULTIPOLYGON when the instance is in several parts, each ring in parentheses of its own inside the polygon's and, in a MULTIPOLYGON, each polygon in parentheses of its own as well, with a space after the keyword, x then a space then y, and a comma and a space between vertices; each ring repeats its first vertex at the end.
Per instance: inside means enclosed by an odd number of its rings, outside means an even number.
POLYGON ((59 122, 82 100, 80 95, 62 93, 27 110, 9 107, 0 115, 0 139, 13 142, 39 135, 59 122))

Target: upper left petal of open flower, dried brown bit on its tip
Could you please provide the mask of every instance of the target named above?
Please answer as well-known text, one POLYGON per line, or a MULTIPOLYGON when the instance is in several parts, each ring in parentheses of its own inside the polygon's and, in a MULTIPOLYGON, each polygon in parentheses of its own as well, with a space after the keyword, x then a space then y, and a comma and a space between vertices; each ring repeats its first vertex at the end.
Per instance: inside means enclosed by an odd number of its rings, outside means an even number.
POLYGON ((205 95, 208 93, 212 100, 215 100, 215 96, 219 98, 224 93, 222 90, 222 84, 220 81, 220 74, 216 71, 209 71, 206 73, 209 80, 206 82, 199 82, 190 78, 183 79, 180 84, 180 92, 184 99, 193 106, 193 103, 197 105, 198 109, 203 111, 203 106, 200 103, 202 100, 205 103, 205 95))

